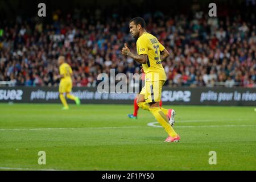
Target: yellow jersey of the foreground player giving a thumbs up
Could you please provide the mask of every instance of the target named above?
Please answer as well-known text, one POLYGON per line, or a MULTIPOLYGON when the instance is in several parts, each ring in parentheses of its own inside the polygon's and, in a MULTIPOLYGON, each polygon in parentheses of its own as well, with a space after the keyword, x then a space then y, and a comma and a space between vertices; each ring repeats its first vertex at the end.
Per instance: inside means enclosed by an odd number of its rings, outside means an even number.
POLYGON ((154 35, 144 32, 137 40, 138 55, 147 55, 147 64, 142 64, 146 81, 166 81, 166 73, 160 60, 160 51, 165 48, 154 35))

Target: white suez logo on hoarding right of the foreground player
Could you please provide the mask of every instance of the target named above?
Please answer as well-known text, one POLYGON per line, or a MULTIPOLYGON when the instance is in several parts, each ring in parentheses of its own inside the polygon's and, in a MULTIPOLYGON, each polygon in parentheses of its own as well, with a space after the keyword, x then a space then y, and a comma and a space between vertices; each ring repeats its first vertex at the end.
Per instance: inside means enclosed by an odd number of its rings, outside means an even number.
POLYGON ((175 91, 167 91, 164 90, 162 92, 162 101, 183 101, 183 102, 189 102, 191 101, 191 91, 185 90, 175 90, 175 91))

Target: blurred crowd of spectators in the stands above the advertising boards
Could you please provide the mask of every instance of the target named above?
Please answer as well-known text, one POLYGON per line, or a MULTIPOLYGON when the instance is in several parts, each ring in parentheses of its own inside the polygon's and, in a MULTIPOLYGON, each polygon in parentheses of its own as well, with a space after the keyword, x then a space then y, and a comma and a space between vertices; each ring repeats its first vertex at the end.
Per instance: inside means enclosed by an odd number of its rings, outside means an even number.
MULTIPOLYGON (((73 69, 74 86, 96 86, 100 73, 139 73, 140 65, 121 55, 123 43, 136 52, 129 35, 132 17, 81 10, 52 20, 16 18, 0 27, 0 81, 16 86, 57 86, 57 57, 64 55, 73 69)), ((256 87, 256 20, 236 16, 193 17, 146 13, 147 31, 171 52, 163 61, 168 86, 256 87)))

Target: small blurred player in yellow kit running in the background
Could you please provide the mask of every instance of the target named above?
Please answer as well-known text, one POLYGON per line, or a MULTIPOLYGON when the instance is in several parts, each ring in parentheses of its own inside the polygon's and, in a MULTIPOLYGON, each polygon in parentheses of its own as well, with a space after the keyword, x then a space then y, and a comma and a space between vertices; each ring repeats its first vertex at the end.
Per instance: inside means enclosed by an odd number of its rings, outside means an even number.
POLYGON ((58 63, 60 65, 60 85, 59 85, 59 93, 60 93, 60 100, 64 105, 63 110, 68 110, 68 104, 65 99, 64 93, 66 94, 67 98, 76 102, 76 105, 80 105, 80 99, 78 97, 73 96, 71 93, 72 90, 72 68, 69 64, 65 63, 65 57, 60 56, 58 59, 58 63))

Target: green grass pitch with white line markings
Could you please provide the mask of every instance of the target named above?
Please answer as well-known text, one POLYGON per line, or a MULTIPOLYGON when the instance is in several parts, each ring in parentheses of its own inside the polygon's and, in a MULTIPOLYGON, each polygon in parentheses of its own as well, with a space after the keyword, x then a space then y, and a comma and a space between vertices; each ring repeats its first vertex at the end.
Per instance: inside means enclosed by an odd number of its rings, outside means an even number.
POLYGON ((0 104, 1 170, 256 170, 254 107, 172 106, 179 143, 163 142, 167 134, 147 125, 156 122, 148 111, 129 119, 133 105, 61 107, 0 104))

